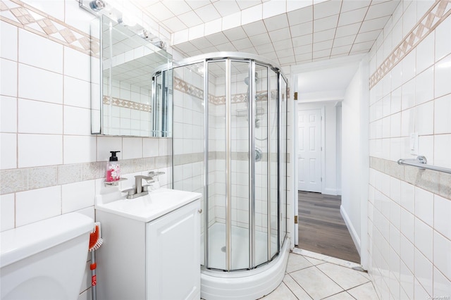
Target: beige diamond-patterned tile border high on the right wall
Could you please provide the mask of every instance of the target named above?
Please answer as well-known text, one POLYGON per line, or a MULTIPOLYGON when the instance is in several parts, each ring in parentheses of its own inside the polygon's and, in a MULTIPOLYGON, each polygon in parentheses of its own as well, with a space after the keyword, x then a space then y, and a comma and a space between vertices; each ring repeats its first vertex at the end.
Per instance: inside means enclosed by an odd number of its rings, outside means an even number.
POLYGON ((451 1, 435 1, 429 11, 421 18, 419 23, 409 34, 397 45, 388 58, 378 67, 375 73, 369 78, 369 87, 373 88, 397 63, 407 56, 416 45, 427 37, 435 27, 443 22, 451 14, 451 1))

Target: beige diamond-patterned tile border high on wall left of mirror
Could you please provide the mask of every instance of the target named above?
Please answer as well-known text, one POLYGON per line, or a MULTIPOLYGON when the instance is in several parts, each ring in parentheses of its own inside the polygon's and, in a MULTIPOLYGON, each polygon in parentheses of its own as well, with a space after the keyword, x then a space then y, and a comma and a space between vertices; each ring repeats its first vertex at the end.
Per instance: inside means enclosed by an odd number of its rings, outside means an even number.
POLYGON ((84 54, 99 56, 99 39, 19 0, 0 1, 0 20, 84 54))

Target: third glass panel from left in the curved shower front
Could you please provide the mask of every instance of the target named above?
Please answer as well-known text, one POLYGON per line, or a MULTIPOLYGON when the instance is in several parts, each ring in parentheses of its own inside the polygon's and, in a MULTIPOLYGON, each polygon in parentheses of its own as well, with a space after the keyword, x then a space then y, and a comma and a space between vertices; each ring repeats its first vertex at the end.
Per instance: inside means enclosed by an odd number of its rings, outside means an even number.
POLYGON ((252 101, 252 77, 249 78, 249 62, 230 61, 230 269, 250 267, 252 228, 249 226, 249 212, 252 196, 249 194, 251 181, 249 173, 249 113, 252 101))

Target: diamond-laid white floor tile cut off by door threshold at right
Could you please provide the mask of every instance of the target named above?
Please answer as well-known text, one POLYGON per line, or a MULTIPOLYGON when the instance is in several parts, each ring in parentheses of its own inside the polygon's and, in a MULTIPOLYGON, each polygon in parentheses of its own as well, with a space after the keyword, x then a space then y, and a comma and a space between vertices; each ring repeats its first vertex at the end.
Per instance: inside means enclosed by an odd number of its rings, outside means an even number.
POLYGON ((343 289, 351 289, 358 285, 363 285, 369 282, 369 279, 361 275, 360 271, 345 268, 340 265, 334 265, 333 263, 323 263, 318 265, 317 268, 323 271, 330 279, 338 283, 343 289))

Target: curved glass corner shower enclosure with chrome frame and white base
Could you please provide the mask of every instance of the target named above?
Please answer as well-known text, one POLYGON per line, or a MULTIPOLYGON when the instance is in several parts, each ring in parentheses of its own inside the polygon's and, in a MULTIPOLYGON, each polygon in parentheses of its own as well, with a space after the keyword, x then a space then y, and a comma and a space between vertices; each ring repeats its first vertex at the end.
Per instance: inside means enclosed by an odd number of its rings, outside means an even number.
POLYGON ((257 299, 285 273, 286 90, 280 68, 252 54, 174 64, 173 188, 203 194, 204 299, 257 299))

